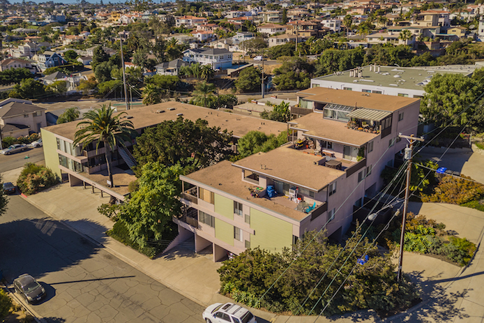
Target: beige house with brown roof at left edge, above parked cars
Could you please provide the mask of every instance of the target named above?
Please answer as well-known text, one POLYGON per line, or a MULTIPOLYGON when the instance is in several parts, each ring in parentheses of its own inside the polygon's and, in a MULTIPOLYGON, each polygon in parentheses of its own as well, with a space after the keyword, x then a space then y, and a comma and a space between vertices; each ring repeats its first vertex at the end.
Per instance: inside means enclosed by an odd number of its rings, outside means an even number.
POLYGON ((45 109, 32 101, 8 98, 0 102, 0 126, 2 137, 20 137, 38 133, 47 126, 45 109))

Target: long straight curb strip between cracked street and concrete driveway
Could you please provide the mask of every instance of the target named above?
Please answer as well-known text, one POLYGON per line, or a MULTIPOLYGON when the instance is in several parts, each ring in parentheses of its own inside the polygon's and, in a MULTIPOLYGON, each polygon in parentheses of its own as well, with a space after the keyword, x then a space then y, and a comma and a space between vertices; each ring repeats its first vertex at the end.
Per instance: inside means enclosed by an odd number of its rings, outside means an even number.
MULTIPOLYGON (((132 260, 130 260, 128 257, 126 257, 125 255, 122 255, 121 253, 117 252, 116 250, 113 250, 112 248, 109 248, 108 246, 105 246, 103 243, 100 243, 99 241, 97 241, 96 239, 93 239, 91 236, 87 235, 87 234, 84 234, 84 232, 80 232, 79 230, 77 230, 75 227, 72 227, 71 225, 69 225, 68 223, 64 222, 64 220, 61 220, 59 218, 57 218, 54 213, 50 212, 50 211, 46 211, 45 209, 43 209, 43 207, 39 206, 36 202, 32 202, 31 200, 28 199, 27 195, 24 195, 24 194, 21 194, 22 197, 25 198, 25 200, 27 202, 29 202, 29 204, 31 204, 32 206, 35 206, 37 209, 39 209, 40 211, 43 211, 45 214, 47 214, 47 216, 50 216, 51 218, 53 218, 54 220, 57 220, 59 221, 60 223, 62 223, 63 225, 65 225, 66 227, 69 228, 69 230, 72 230, 73 232, 79 234, 80 236, 82 236, 84 239, 87 239, 89 241, 91 241, 91 243, 94 243, 96 246, 100 246, 100 247, 103 247, 104 250, 107 251, 107 253, 110 253, 111 255, 114 255, 114 257, 118 258, 119 260, 121 260, 122 262, 125 262, 126 264, 130 265, 130 266, 133 266, 133 268, 141 271, 142 273, 144 273, 146 276, 152 278, 153 280, 156 280, 158 283, 162 284, 162 285, 165 285, 166 287, 168 287, 170 290, 173 290, 174 292, 177 292, 179 294, 181 294, 182 296, 186 297, 187 299, 190 299, 190 301, 193 301, 197 304, 199 304, 200 306, 209 306, 210 304, 209 303, 203 303, 202 301, 200 301, 199 299, 195 299, 194 297, 190 296, 190 295, 187 295, 185 294, 185 292, 183 292, 182 290, 179 290, 179 288, 176 288, 174 287, 173 285, 171 285, 170 283, 167 283, 165 282, 164 280, 161 280, 160 278, 156 277, 156 276, 153 276, 152 273, 150 273, 149 271, 146 271, 142 266, 139 266, 139 264, 137 264, 136 262, 133 262, 132 260)), ((110 236, 107 236, 107 234, 105 234, 105 236, 108 238, 108 239, 113 239, 111 238, 110 236)), ((118 243, 121 243, 119 241, 117 241, 116 239, 113 239, 114 241, 118 242, 118 243)), ((123 243, 121 243, 123 245, 123 243)), ((130 248, 128 246, 125 246, 123 245, 123 247, 125 248, 130 248)), ((134 250, 134 249, 133 249, 134 250)), ((212 297, 213 298, 213 297, 212 297)), ((44 322, 42 322, 44 323, 44 322)))

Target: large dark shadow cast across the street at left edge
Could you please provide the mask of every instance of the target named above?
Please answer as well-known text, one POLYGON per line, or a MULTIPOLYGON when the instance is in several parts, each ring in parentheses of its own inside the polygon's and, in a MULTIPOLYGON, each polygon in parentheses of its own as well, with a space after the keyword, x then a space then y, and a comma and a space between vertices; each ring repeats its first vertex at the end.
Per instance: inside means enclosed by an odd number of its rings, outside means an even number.
MULTIPOLYGON (((71 221, 69 225, 89 225, 93 231, 106 230, 89 220, 71 221)), ((47 273, 61 271, 90 258, 100 249, 100 246, 52 218, 26 218, 1 223, 0 236, 1 269, 9 283, 22 273, 42 278, 47 273)))

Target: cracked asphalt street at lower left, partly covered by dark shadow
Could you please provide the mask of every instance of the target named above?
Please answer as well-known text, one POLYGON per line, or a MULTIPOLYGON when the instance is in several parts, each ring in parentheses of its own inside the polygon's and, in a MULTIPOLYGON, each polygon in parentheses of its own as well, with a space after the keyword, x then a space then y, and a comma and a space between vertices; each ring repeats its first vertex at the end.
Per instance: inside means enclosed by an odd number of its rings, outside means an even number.
MULTIPOLYGON (((89 221, 89 220, 85 220, 89 221)), ((47 291, 31 308, 47 322, 202 322, 204 308, 52 220, 19 195, 0 217, 0 269, 47 291)))

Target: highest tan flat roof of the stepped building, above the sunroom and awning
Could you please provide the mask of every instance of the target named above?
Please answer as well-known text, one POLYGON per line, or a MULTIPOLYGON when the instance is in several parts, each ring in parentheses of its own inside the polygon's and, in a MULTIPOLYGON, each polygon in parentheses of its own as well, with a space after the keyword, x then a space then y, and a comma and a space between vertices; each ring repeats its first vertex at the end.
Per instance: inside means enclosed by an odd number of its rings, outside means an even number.
POLYGON ((347 105, 349 107, 366 107, 372 110, 396 111, 402 107, 407 107, 416 103, 418 98, 404 98, 402 96, 387 96, 377 93, 363 93, 357 91, 327 89, 325 87, 313 87, 304 91, 299 91, 305 100, 321 103, 335 103, 347 105), (307 96, 305 96, 307 95, 307 96))

